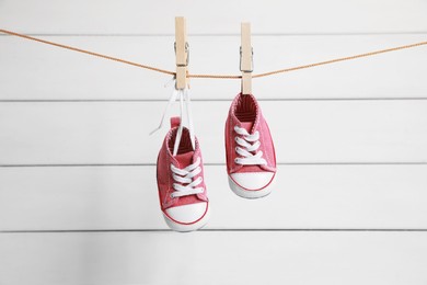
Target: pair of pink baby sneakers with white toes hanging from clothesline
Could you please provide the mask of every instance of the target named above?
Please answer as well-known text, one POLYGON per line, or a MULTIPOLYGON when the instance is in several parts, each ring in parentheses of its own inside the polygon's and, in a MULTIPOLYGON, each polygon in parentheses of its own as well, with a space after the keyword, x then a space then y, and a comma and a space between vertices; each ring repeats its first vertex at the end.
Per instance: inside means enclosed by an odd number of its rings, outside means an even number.
MULTIPOLYGON (((159 198, 171 229, 193 231, 208 221, 209 200, 199 144, 197 138, 192 142, 188 128, 180 125, 178 117, 171 119, 159 152, 159 198)), ((276 155, 268 125, 252 94, 238 94, 231 104, 226 122, 226 153, 229 185, 236 195, 259 198, 270 193, 276 155)))

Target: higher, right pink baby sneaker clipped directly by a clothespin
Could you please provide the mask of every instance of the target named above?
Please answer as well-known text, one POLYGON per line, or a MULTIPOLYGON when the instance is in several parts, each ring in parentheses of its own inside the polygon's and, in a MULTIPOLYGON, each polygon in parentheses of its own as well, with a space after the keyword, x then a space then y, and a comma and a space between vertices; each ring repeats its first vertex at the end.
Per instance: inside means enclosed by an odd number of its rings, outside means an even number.
POLYGON ((227 172, 231 190, 245 198, 266 196, 276 174, 267 122, 254 95, 233 100, 226 122, 227 172))

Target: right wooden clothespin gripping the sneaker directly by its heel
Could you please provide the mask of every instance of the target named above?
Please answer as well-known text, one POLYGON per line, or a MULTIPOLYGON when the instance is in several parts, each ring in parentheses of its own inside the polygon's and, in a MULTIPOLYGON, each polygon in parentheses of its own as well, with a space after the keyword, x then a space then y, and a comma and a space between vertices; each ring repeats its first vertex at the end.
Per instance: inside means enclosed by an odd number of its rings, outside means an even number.
POLYGON ((253 49, 251 45, 251 23, 241 25, 240 70, 242 71, 242 94, 252 94, 253 49))

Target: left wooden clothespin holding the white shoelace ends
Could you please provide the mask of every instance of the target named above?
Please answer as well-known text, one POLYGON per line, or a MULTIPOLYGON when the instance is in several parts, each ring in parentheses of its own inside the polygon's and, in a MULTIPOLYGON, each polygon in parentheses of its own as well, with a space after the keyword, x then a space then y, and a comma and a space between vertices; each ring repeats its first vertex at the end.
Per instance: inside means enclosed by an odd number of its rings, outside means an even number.
POLYGON ((185 89, 188 86, 187 67, 189 47, 187 43, 187 29, 184 16, 175 18, 175 55, 176 55, 176 89, 185 89))

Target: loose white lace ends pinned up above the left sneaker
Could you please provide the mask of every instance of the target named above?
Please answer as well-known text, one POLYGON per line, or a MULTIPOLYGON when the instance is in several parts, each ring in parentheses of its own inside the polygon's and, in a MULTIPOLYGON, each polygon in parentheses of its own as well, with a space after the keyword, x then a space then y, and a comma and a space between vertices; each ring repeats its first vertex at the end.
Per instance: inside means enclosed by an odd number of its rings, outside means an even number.
POLYGON ((176 153, 177 153, 177 150, 178 150, 178 147, 180 147, 181 137, 182 137, 182 134, 183 134, 183 128, 184 128, 184 122, 183 122, 184 101, 185 101, 185 111, 186 111, 185 115, 186 115, 186 118, 187 118, 188 130, 189 130, 189 138, 192 140, 193 150, 196 149, 196 138, 194 136, 193 116, 192 116, 192 109, 191 109, 191 101, 189 101, 188 89, 184 89, 184 90, 182 90, 182 89, 177 90, 175 88, 173 89, 173 92, 172 92, 171 98, 169 99, 166 109, 163 111, 162 119, 160 121, 159 127, 157 127, 155 129, 153 129, 150 133, 150 135, 152 135, 157 130, 162 128, 163 123, 164 123, 164 118, 165 118, 166 114, 169 113, 169 110, 171 109, 173 103, 177 100, 177 98, 180 98, 181 124, 180 124, 180 127, 178 127, 178 130, 177 130, 177 134, 176 134, 175 144, 173 146, 173 156, 176 156, 176 153))

